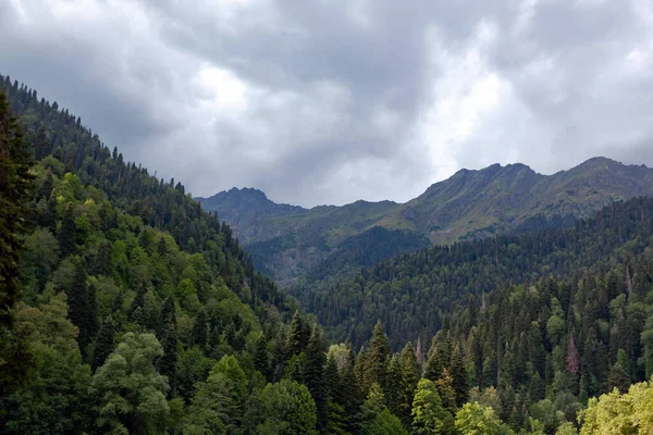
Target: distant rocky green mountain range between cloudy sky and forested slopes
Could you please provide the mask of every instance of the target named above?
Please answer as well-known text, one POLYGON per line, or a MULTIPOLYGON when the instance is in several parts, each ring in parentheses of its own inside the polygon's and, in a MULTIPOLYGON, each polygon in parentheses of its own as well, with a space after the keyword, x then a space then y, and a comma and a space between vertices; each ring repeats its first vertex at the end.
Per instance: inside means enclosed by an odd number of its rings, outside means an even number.
POLYGON ((652 169, 593 158, 553 175, 519 163, 460 170, 406 203, 305 209, 250 188, 196 199, 234 228, 255 265, 287 285, 325 264, 369 265, 430 244, 566 226, 637 196, 653 196, 652 169))

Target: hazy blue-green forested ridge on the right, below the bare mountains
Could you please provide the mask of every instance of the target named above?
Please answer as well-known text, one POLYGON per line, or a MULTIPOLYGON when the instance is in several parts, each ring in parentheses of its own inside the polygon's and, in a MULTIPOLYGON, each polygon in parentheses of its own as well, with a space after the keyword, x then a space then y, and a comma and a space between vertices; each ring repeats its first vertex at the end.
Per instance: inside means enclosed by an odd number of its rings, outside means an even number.
POLYGON ((613 266, 625 283, 641 266, 632 258, 652 240, 653 199, 639 198, 614 203, 572 228, 432 247, 354 274, 332 271, 291 290, 334 339, 360 344, 380 319, 396 349, 407 338, 428 340, 470 296, 481 303, 489 293, 510 284, 545 276, 580 278, 584 268, 613 266))

